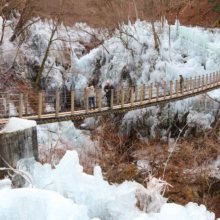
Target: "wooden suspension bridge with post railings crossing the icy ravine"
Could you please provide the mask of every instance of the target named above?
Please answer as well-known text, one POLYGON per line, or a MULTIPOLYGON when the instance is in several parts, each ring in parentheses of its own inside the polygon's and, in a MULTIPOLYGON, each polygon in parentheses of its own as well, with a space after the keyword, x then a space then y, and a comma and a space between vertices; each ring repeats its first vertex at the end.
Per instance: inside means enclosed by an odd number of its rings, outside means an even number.
POLYGON ((3 92, 0 93, 0 125, 10 117, 35 120, 37 124, 47 124, 67 120, 81 120, 89 117, 126 113, 136 109, 161 105, 187 99, 220 88, 220 71, 185 78, 179 81, 157 82, 142 86, 117 86, 111 90, 110 108, 107 106, 104 90, 95 88, 95 110, 89 110, 86 88, 3 92))

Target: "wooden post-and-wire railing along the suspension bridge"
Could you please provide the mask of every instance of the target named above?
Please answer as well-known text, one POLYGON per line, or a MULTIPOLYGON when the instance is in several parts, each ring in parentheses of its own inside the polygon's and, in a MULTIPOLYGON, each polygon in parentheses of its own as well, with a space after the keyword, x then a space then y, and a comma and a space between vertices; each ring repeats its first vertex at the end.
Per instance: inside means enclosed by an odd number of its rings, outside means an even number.
MULTIPOLYGON (((170 82, 146 83, 143 85, 116 86, 112 91, 111 108, 123 108, 142 105, 146 102, 157 102, 196 93, 220 84, 220 72, 184 78, 170 82)), ((99 111, 106 110, 107 100, 103 89, 95 89, 95 107, 99 111)), ((32 116, 41 118, 43 115, 56 117, 75 114, 79 111, 89 112, 86 88, 47 91, 0 92, 0 115, 2 118, 11 116, 32 116)), ((46 116, 45 116, 46 117, 46 116)))

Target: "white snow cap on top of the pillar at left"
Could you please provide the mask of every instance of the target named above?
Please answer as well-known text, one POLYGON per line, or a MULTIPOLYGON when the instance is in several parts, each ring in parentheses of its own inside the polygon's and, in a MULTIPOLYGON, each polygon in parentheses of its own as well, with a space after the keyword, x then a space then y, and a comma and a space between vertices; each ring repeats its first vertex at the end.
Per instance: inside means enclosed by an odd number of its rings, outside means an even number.
POLYGON ((11 133, 16 131, 22 131, 28 128, 36 127, 36 121, 21 119, 21 118, 10 118, 5 127, 0 133, 11 133))

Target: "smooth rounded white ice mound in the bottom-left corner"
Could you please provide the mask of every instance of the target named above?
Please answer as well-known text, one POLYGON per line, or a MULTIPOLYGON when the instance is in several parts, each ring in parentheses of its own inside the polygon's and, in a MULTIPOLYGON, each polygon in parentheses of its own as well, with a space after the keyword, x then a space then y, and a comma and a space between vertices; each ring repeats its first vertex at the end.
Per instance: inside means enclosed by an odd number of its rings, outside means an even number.
POLYGON ((39 189, 0 191, 1 220, 89 220, 87 208, 58 193, 39 189))

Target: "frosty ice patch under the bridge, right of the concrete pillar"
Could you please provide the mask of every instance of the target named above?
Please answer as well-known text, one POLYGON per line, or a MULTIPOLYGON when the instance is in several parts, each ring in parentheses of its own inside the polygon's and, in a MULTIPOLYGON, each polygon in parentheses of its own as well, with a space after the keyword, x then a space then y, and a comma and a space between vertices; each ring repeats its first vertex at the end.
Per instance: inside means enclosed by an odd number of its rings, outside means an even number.
POLYGON ((90 139, 90 135, 76 129, 72 121, 51 123, 37 126, 39 145, 39 158, 45 161, 46 157, 54 153, 52 163, 59 162, 56 151, 76 150, 81 158, 92 159, 92 156, 99 154, 98 143, 90 139), (88 158, 88 155, 91 157, 88 158))

